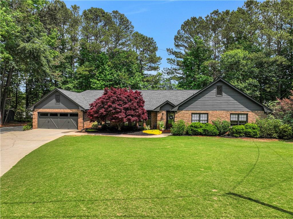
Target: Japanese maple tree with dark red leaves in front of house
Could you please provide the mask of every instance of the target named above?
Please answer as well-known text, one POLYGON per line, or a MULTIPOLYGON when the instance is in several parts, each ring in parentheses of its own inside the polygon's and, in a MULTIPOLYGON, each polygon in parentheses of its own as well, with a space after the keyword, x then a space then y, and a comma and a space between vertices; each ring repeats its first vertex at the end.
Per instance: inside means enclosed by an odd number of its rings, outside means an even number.
POLYGON ((121 130, 125 122, 137 122, 147 119, 144 99, 141 92, 126 88, 105 88, 104 94, 96 99, 87 112, 90 120, 108 119, 121 130))

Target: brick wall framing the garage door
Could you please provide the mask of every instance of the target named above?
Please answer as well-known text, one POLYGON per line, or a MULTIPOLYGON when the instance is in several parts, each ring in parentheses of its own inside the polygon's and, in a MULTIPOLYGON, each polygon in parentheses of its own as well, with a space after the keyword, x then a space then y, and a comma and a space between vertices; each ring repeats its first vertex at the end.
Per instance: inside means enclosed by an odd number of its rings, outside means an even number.
POLYGON ((34 109, 33 111, 33 129, 38 128, 38 112, 46 113, 78 113, 78 130, 83 129, 83 111, 78 109, 34 109))

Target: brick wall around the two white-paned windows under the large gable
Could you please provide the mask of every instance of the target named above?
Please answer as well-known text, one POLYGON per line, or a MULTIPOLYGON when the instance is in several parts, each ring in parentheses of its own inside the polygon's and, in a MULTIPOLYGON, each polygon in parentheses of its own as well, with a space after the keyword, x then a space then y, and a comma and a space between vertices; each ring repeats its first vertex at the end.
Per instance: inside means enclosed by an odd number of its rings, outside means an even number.
POLYGON ((265 118, 266 113, 264 111, 188 111, 188 110, 179 110, 175 113, 175 122, 182 119, 186 123, 191 123, 191 113, 208 113, 209 123, 212 123, 212 120, 220 118, 221 120, 230 121, 230 113, 247 113, 248 114, 248 123, 256 121, 256 118, 265 118))

